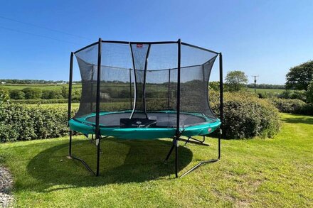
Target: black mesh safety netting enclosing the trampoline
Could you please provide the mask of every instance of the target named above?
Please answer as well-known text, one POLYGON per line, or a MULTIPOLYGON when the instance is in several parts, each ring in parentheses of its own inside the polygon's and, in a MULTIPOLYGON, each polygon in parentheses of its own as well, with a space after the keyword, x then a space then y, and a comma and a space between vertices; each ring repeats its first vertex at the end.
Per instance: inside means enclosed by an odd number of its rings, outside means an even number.
MULTIPOLYGON (((102 43, 100 111, 123 111, 100 118, 100 124, 118 126, 120 119, 153 119, 158 126, 176 126, 178 43, 102 43), (154 113, 152 113, 154 111, 154 113), (155 114, 155 115, 154 115, 155 114)), ((75 118, 95 113, 97 50, 92 45, 75 53, 82 78, 82 96, 75 118)), ((216 119, 208 101, 208 80, 217 53, 181 43, 180 126, 216 119)), ((92 119, 91 117, 90 119, 92 119)))

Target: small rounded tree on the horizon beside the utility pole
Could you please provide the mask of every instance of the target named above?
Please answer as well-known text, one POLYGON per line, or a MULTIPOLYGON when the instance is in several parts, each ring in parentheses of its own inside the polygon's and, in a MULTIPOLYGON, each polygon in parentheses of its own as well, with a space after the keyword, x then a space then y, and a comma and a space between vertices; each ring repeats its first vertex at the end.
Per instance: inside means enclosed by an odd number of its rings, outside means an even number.
POLYGON ((248 83, 248 77, 241 71, 228 72, 225 80, 229 91, 240 91, 248 83))

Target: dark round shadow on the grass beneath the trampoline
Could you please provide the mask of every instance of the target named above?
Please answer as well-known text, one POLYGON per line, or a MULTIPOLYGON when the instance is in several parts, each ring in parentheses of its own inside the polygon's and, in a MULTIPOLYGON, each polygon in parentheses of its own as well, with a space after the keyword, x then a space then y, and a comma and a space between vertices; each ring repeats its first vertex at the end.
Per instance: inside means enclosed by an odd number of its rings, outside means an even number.
MULTIPOLYGON (((95 170, 96 147, 90 141, 73 142, 73 154, 82 158, 95 170)), ((100 177, 93 176, 82 163, 68 159, 68 143, 53 146, 38 153, 28 163, 28 173, 41 185, 36 191, 60 188, 92 187, 112 183, 144 182, 170 177, 174 174, 174 155, 164 163, 172 141, 120 141, 115 138, 103 140, 100 155, 100 177), (64 186, 65 185, 65 186, 64 186), (66 186, 68 185, 68 186, 66 186)), ((193 154, 189 148, 179 147, 179 169, 191 163, 193 154)), ((30 185, 31 187, 31 185, 30 185)), ((31 187, 34 188, 34 187, 31 187)))

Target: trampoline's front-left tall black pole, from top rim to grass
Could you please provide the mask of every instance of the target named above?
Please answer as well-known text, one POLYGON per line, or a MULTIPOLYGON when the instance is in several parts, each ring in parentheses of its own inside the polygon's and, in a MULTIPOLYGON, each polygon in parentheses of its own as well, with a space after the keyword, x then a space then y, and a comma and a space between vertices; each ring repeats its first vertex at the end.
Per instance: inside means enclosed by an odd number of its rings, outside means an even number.
POLYGON ((97 60, 97 99, 96 99, 96 113, 95 113, 95 139, 97 144, 97 172, 96 176, 99 175, 99 162, 100 162, 100 84, 101 84, 101 46, 102 40, 99 38, 98 43, 98 60, 97 60))

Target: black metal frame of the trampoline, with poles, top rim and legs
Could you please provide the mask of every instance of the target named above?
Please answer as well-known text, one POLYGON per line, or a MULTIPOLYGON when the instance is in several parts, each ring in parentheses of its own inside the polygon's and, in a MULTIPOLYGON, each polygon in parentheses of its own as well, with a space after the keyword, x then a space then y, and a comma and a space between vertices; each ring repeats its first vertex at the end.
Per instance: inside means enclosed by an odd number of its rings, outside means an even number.
MULTIPOLYGON (((95 145, 97 146, 97 169, 96 171, 93 171, 87 163, 81 158, 76 157, 72 153, 72 136, 73 131, 69 128, 69 158, 73 158, 75 160, 80 161, 85 165, 85 168, 89 170, 93 175, 99 176, 100 175, 100 141, 102 139, 101 133, 100 133, 100 75, 101 75, 101 53, 102 53, 102 43, 124 43, 124 44, 166 44, 166 43, 176 43, 178 45, 178 61, 177 61, 177 96, 176 96, 176 134, 172 138, 173 144, 169 150, 169 153, 166 156, 166 160, 169 159, 169 156, 175 149, 175 177, 179 177, 179 143, 178 141, 184 141, 185 145, 187 143, 194 143, 202 146, 209 146, 208 144, 204 143, 206 136, 203 136, 203 141, 199 141, 196 138, 193 138, 192 136, 189 136, 187 139, 181 138, 181 131, 179 126, 179 115, 181 113, 180 111, 180 90, 181 90, 181 45, 187 45, 192 48, 198 48, 201 50, 206 50, 211 53, 215 53, 219 56, 219 80, 220 80, 220 120, 221 120, 221 126, 219 126, 219 132, 218 132, 218 156, 216 159, 211 160, 203 160, 197 165, 193 166, 193 168, 189 169, 181 175, 180 177, 184 177, 185 175, 191 173, 196 168, 200 167, 201 165, 205 165, 207 163, 215 163, 218 160, 221 159, 221 138, 223 136, 223 55, 222 53, 217 53, 213 50, 208 50, 206 48, 201 48, 196 45, 191 45, 188 43, 181 42, 181 39, 177 41, 163 41, 163 42, 126 42, 126 41, 115 41, 115 40, 102 40, 99 38, 99 40, 95 43, 92 43, 90 45, 87 45, 84 48, 81 48, 80 50, 76 50, 75 52, 70 53, 70 76, 69 76, 69 88, 68 88, 68 121, 71 119, 71 105, 72 105, 72 87, 73 87, 73 57, 75 53, 80 52, 81 50, 85 50, 86 48, 89 48, 93 45, 98 44, 98 57, 97 57, 97 91, 96 91, 96 114, 95 114, 95 145)), ((131 47, 132 48, 132 47, 131 47)), ((132 58, 134 61, 134 58, 132 58)), ((147 58, 146 58, 147 59, 147 58)), ((147 60, 146 60, 147 61, 147 60)), ((131 79, 131 78, 130 78, 131 79)), ((135 105, 135 104, 134 104, 135 105)), ((68 125, 69 127, 69 125, 68 125)), ((105 136, 103 138, 107 138, 108 136, 105 136)), ((92 134, 92 140, 93 140, 93 134, 92 134)))

